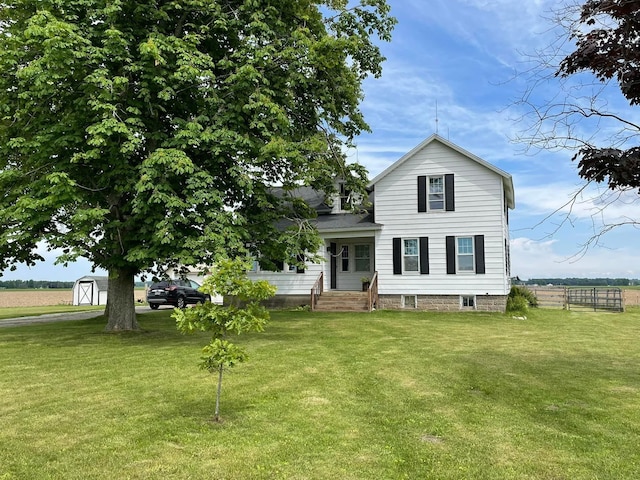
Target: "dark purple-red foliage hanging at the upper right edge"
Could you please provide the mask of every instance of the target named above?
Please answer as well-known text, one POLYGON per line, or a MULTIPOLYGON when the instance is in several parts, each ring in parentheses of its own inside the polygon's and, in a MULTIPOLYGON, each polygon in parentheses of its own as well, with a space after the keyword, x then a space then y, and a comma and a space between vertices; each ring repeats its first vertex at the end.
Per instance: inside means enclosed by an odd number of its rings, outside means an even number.
MULTIPOLYGON (((582 5, 573 38, 576 49, 560 64, 559 75, 591 71, 602 82, 615 79, 631 105, 640 103, 640 1, 588 0, 582 5)), ((622 119, 620 119, 623 121, 622 119)), ((625 122, 636 131, 637 126, 625 122)), ((640 191, 640 148, 627 149, 586 145, 579 149, 580 176, 611 189, 640 191)))

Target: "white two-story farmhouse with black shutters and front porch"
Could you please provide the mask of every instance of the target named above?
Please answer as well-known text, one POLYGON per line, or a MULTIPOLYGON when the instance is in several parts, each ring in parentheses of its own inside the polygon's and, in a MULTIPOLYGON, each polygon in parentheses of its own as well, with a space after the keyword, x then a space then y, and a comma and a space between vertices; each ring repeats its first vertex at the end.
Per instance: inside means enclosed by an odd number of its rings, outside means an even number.
POLYGON ((304 192, 318 212, 324 261, 277 272, 256 266, 250 276, 278 287, 276 304, 504 311, 511 175, 432 135, 373 179, 369 191, 365 214, 343 209, 344 190, 334 201, 304 192))

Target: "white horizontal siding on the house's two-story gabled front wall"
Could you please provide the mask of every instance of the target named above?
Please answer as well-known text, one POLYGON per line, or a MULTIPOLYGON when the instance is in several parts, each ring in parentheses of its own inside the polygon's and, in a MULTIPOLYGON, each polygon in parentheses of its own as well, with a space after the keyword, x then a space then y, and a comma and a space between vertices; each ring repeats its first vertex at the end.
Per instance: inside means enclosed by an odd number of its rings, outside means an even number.
MULTIPOLYGON (((428 182, 427 182, 428 183, 428 182)), ((503 177, 485 165, 432 141, 375 184, 376 270, 380 294, 505 295, 505 231, 503 177), (455 175, 455 211, 425 219, 419 213, 416 178, 455 175), (446 237, 484 236, 483 275, 448 275, 446 237), (429 275, 393 274, 393 238, 429 238, 429 275)), ((404 253, 404 242, 402 244, 404 253)), ((471 260, 472 268, 474 260, 471 260)), ((404 266, 404 259, 403 259, 404 266)))

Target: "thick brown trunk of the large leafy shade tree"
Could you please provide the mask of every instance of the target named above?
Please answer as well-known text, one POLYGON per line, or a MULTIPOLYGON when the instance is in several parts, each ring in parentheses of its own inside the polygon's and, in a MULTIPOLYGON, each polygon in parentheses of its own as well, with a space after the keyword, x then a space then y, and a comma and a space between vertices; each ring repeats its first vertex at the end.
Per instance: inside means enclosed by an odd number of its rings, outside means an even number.
POLYGON ((134 272, 127 269, 109 270, 107 291, 107 332, 137 330, 134 301, 134 272))

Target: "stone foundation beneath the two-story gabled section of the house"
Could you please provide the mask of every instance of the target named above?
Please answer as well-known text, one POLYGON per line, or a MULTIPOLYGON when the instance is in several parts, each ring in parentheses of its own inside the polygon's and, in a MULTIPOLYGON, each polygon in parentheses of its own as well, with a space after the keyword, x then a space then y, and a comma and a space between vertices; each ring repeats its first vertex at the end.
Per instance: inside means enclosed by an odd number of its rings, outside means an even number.
MULTIPOLYGON (((411 297, 413 295, 405 295, 411 297)), ((476 295, 475 307, 462 307, 460 295, 416 295, 417 305, 403 306, 402 295, 380 295, 379 310, 427 310, 440 312, 480 311, 504 312, 507 306, 506 295, 476 295)))

